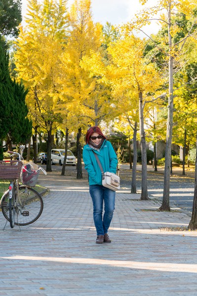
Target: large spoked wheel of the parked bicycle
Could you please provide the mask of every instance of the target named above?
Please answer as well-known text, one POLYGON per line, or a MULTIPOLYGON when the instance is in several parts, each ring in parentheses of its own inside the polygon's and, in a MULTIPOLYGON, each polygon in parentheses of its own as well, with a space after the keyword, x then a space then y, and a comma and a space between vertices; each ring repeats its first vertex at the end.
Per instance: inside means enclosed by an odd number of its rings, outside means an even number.
MULTIPOLYGON (((3 205, 6 199, 7 194, 2 200, 3 205)), ((2 206, 1 208, 4 217, 9 220, 5 211, 5 207, 2 206)), ((15 222, 15 224, 23 226, 35 222, 37 219, 39 219, 42 210, 43 200, 39 193, 31 187, 25 185, 19 186, 19 198, 17 199, 16 204, 17 222, 15 222)))

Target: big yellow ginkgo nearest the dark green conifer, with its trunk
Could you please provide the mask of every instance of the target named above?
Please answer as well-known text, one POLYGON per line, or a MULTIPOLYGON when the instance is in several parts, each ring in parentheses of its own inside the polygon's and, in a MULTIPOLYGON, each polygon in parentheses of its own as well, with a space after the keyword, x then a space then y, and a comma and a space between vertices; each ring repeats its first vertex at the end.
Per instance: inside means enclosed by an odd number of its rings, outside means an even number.
POLYGON ((18 79, 29 89, 27 105, 35 131, 47 133, 47 171, 51 171, 52 133, 62 121, 54 105, 61 94, 58 73, 68 37, 66 4, 66 0, 44 0, 41 4, 29 0, 26 25, 20 28, 14 55, 18 79))

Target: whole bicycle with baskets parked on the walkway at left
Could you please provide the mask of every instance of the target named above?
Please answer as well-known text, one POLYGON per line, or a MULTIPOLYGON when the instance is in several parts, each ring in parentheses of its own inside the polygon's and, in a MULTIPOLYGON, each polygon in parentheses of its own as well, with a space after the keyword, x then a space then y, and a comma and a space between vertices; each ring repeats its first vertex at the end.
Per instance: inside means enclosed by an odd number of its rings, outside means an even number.
POLYGON ((21 153, 7 151, 11 154, 11 160, 0 160, 0 179, 10 180, 8 190, 0 200, 0 206, 6 223, 8 221, 11 228, 14 225, 20 228, 20 225, 35 222, 43 211, 43 200, 31 186, 36 185, 40 170, 45 175, 46 172, 34 163, 23 164, 24 148, 25 146, 21 147, 21 153), (16 160, 12 160, 13 155, 17 155, 16 160))

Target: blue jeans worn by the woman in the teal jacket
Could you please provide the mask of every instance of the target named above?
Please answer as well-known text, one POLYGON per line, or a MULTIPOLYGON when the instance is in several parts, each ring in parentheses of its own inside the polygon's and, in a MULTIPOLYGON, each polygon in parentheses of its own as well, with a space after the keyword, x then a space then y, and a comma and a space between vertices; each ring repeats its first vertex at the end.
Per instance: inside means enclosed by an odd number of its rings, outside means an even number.
POLYGON ((102 185, 90 185, 90 196, 93 202, 93 218, 97 235, 104 235, 108 232, 115 209, 116 191, 106 188, 102 185), (103 201, 105 204, 103 214, 103 201))

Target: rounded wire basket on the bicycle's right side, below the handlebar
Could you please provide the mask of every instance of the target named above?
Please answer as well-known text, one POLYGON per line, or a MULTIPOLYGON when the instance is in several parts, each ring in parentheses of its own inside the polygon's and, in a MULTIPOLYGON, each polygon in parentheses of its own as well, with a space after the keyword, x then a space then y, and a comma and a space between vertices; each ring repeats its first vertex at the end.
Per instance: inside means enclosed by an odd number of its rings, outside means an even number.
POLYGON ((39 166, 33 163, 27 163, 23 165, 21 180, 22 184, 28 186, 35 186, 39 178, 39 166))

